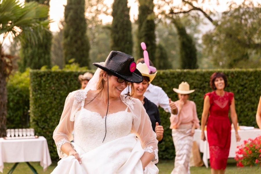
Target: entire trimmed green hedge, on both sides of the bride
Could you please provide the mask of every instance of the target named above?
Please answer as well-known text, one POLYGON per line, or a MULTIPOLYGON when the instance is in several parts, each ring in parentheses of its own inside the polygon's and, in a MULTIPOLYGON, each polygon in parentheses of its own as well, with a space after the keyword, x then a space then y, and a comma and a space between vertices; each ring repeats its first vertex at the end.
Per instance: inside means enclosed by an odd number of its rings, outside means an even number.
MULTIPOLYGON (((197 105, 201 118, 204 94, 212 91, 209 86, 210 75, 218 70, 159 70, 153 84, 161 86, 168 96, 177 100, 172 88, 178 88, 187 81, 195 92, 190 99, 197 105)), ((220 71, 220 70, 219 70, 220 71)), ((221 70, 228 77, 226 91, 235 95, 235 105, 240 125, 255 126, 255 114, 260 97, 261 69, 221 70)), ((30 122, 38 135, 46 137, 52 160, 58 160, 52 133, 59 123, 65 99, 69 92, 79 88, 78 75, 83 72, 32 70, 30 72, 30 122)), ((169 129, 169 114, 160 108, 164 141, 159 144, 160 159, 173 159, 174 145, 169 129)))

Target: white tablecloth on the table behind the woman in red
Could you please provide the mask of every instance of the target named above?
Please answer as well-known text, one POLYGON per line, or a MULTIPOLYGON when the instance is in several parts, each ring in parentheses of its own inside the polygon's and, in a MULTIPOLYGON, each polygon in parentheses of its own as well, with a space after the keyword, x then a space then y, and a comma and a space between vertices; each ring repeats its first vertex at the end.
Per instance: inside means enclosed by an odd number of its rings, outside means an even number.
MULTIPOLYGON (((203 141, 200 139, 201 130, 196 129, 195 134, 193 137, 193 141, 196 141, 198 146, 200 147, 200 152, 203 153, 203 162, 206 166, 206 168, 209 167, 208 165, 208 159, 209 159, 209 143, 208 141, 203 141)), ((261 135, 260 129, 251 129, 251 130, 238 130, 238 134, 241 138, 240 142, 236 142, 235 139, 235 130, 231 130, 231 144, 230 144, 230 150, 229 150, 229 158, 235 157, 235 152, 238 150, 237 146, 244 143, 244 140, 248 140, 249 138, 254 139, 257 136, 261 135)), ((205 136, 207 139, 206 131, 205 136)))

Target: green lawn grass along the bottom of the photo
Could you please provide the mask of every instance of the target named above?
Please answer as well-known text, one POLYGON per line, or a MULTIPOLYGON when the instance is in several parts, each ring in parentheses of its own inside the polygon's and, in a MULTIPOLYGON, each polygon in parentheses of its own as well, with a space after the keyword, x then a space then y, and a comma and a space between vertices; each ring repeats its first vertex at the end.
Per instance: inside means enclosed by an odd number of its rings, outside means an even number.
MULTIPOLYGON (((39 162, 30 162, 30 164, 37 170, 39 174, 49 174, 56 167, 57 163, 53 163, 47 168, 47 171, 43 171, 39 162)), ((12 168, 14 163, 4 163, 3 173, 6 174, 12 168)), ((174 160, 164 161, 160 160, 157 164, 160 172, 159 174, 170 174, 174 168, 174 160)), ((210 168, 202 167, 191 167, 191 174, 210 174, 210 168)), ((33 173, 26 163, 19 163, 15 168, 13 174, 30 174, 33 173)), ((225 174, 260 174, 261 168, 258 167, 237 167, 234 159, 229 159, 226 167, 225 174)))

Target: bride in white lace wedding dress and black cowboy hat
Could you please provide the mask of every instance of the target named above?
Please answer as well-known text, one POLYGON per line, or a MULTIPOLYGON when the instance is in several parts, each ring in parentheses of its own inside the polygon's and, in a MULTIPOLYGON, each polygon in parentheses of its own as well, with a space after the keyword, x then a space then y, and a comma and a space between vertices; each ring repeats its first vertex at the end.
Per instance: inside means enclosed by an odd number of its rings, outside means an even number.
MULTIPOLYGON (((134 58, 111 51, 86 89, 68 95, 53 138, 62 158, 52 173, 158 173, 158 141, 135 98, 121 95, 143 81, 134 58), (74 130, 74 142, 72 132, 74 130)), ((131 90, 134 91, 134 90, 131 90)))

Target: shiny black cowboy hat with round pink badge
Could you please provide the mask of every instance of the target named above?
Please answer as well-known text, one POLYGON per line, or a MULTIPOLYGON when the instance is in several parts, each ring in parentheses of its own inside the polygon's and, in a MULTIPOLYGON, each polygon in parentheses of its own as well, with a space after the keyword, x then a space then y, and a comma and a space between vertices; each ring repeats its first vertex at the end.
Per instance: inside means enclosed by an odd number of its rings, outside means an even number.
POLYGON ((126 81, 133 83, 143 81, 142 74, 136 69, 134 58, 124 52, 111 51, 105 62, 97 62, 93 65, 126 81))

